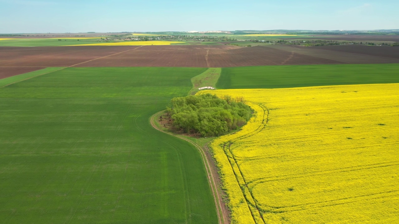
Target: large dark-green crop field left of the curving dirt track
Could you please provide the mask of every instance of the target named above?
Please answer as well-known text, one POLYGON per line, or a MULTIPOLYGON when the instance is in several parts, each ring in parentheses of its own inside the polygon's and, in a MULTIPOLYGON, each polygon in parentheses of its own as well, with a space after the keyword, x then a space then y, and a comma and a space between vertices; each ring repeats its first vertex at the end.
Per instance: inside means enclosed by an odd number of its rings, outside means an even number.
POLYGON ((149 123, 205 70, 66 68, 0 88, 1 222, 217 223, 199 151, 149 123))

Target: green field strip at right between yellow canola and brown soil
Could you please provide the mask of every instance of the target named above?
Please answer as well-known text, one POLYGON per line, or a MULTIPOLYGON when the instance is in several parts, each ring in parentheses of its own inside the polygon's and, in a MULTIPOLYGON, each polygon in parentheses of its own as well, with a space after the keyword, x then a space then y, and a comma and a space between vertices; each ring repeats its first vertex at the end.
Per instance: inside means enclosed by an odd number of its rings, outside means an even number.
POLYGON ((399 64, 278 65, 223 68, 216 87, 290 88, 399 83, 399 64))

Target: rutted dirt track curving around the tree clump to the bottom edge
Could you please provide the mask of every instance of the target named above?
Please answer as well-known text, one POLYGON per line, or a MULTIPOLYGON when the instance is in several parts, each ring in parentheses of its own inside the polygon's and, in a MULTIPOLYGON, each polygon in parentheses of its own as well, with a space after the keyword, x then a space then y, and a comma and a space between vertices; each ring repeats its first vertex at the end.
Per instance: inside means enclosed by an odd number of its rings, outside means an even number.
POLYGON ((194 141, 191 141, 189 139, 183 138, 182 136, 179 136, 177 134, 172 134, 169 132, 165 132, 164 130, 162 130, 161 128, 158 128, 158 126, 156 126, 154 124, 154 118, 156 116, 159 116, 159 114, 164 113, 165 111, 162 110, 154 115, 151 116, 150 118, 150 123, 151 126, 153 128, 155 128, 156 130, 159 130, 161 132, 164 132, 166 134, 169 134, 171 136, 175 136, 177 138, 180 138, 182 140, 186 140, 190 143, 192 143, 201 153, 201 157, 203 160, 203 163, 205 165, 205 169, 206 169, 206 173, 207 173, 207 177, 208 177, 208 181, 209 181, 209 186, 211 187, 211 191, 212 191, 212 195, 213 195, 213 200, 215 202, 215 206, 217 207, 217 218, 219 220, 219 224, 229 224, 229 212, 227 211, 227 208, 224 206, 223 202, 222 202, 222 198, 221 198, 221 194, 218 191, 217 188, 217 183, 218 183, 218 174, 217 171, 215 169, 215 165, 213 165, 214 167, 212 167, 211 164, 213 164, 212 161, 212 157, 211 155, 209 155, 209 153, 205 152, 205 149, 203 149, 202 147, 200 147, 197 143, 195 143, 194 141))

